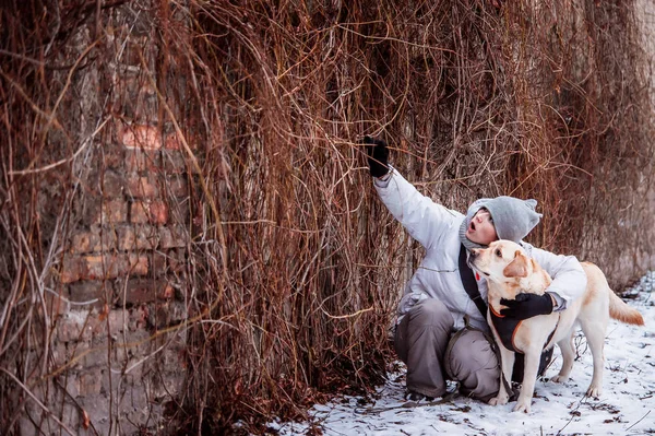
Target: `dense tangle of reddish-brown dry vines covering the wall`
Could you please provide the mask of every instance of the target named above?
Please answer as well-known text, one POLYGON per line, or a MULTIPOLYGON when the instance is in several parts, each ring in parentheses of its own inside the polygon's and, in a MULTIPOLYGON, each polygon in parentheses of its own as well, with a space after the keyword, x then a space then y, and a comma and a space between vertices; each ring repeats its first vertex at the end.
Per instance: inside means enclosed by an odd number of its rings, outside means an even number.
MULTIPOLYGON (((652 250, 636 232, 653 228, 654 145, 634 2, 19 3, 0 9, 2 429, 35 399, 59 416, 48 392, 71 363, 52 339, 58 274, 90 172, 105 174, 114 121, 133 116, 109 78, 143 22, 156 61, 129 56, 153 122, 199 158, 187 315, 168 326, 188 332, 168 415, 180 432, 257 432, 384 377, 421 252, 376 198, 364 134, 388 139, 394 166, 446 207, 538 199, 531 241, 596 261, 616 285, 652 267, 616 256, 652 250)), ((162 335, 145 339, 152 356, 162 335)))

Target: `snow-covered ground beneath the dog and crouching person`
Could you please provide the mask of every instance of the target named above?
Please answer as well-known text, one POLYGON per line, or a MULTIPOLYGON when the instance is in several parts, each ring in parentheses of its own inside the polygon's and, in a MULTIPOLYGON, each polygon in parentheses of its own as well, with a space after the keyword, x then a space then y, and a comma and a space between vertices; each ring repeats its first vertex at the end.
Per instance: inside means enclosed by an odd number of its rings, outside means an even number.
POLYGON ((404 372, 390 374, 376 398, 342 397, 311 410, 310 423, 271 423, 279 435, 655 435, 655 272, 629 291, 629 304, 645 326, 611 321, 605 341, 604 392, 585 398, 592 355, 582 332, 579 358, 565 384, 548 381, 561 365, 556 346, 546 379, 538 380, 529 414, 512 412, 515 403, 491 406, 455 397, 439 404, 407 406, 404 372))

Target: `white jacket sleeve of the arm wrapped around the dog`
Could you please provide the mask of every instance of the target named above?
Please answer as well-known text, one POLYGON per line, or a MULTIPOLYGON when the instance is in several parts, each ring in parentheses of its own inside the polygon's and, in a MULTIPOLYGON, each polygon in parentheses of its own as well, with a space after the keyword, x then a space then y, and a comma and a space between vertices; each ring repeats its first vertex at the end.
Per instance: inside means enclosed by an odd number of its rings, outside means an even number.
POLYGON ((565 309, 571 302, 584 293, 587 278, 575 256, 555 255, 526 243, 523 243, 523 245, 527 248, 528 254, 552 278, 552 283, 546 292, 555 294, 558 302, 556 311, 565 309))

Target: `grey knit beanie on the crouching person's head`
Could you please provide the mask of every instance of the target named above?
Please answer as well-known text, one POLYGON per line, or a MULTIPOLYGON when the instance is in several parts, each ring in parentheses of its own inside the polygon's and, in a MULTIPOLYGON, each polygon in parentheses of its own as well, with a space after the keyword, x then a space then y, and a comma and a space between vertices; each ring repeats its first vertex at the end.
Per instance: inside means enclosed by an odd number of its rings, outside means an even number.
POLYGON ((497 197, 483 204, 493 220, 499 239, 521 241, 539 223, 540 213, 535 212, 537 200, 514 197, 497 197))

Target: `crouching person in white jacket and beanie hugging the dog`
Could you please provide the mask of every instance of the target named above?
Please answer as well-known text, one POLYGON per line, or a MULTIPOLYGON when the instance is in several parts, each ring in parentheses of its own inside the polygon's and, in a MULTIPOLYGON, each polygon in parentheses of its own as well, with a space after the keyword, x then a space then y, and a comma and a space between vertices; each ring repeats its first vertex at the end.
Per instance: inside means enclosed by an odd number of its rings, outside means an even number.
MULTIPOLYGON (((384 141, 366 137, 364 142, 380 199, 426 249, 405 287, 394 333, 395 351, 407 366, 408 398, 441 397, 451 379, 462 393, 487 401, 498 392, 500 367, 485 334, 486 304, 479 304, 487 301, 487 283, 473 275, 468 250, 510 239, 552 276, 545 295, 522 294, 523 299, 503 302, 508 308, 501 315, 517 319, 563 310, 586 286, 582 266, 575 257, 522 240, 541 216, 535 200, 480 199, 463 215, 422 196, 391 167, 384 141), (466 322, 473 328, 465 328, 466 322)), ((515 367, 515 375, 521 372, 515 367)))

